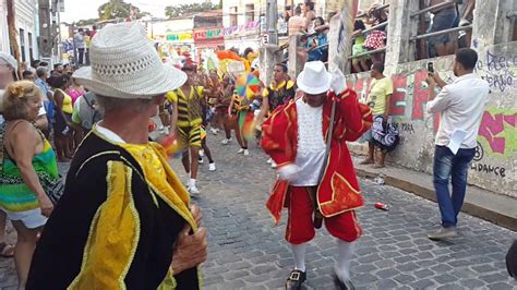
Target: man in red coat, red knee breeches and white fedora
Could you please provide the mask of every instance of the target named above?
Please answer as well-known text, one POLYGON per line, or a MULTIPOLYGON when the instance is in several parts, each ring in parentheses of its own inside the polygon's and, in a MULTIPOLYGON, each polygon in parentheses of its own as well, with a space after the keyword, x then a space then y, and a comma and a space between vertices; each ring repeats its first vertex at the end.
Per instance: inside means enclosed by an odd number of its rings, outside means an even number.
POLYGON ((321 61, 305 63, 297 84, 303 96, 273 112, 262 138, 279 177, 267 208, 277 223, 282 207, 289 213, 286 240, 292 246, 294 269, 286 289, 301 289, 306 279, 305 246, 317 223, 313 216, 322 217, 338 239, 335 281, 340 289, 350 289, 350 259, 362 232, 353 210, 363 200, 346 142, 370 129, 372 113, 353 90, 346 89, 342 73, 328 73, 321 61))

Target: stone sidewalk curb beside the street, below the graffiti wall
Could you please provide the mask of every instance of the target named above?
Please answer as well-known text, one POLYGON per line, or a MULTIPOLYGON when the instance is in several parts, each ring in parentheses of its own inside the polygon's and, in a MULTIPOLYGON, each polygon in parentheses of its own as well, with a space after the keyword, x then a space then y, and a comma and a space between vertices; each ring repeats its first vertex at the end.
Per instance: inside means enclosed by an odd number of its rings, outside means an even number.
MULTIPOLYGON (((364 169, 356 168, 356 172, 359 177, 363 178, 375 178, 378 176, 376 172, 370 172, 364 169)), ((402 191, 407 191, 410 193, 413 193, 418 196, 421 196, 425 200, 436 202, 436 195, 434 191, 426 189, 422 185, 411 183, 407 180, 398 179, 395 177, 390 176, 384 176, 384 182, 385 184, 392 185, 394 188, 400 189, 402 191)), ((490 210, 483 207, 480 207, 478 205, 471 204, 469 202, 465 202, 464 207, 461 208, 462 213, 467 213, 469 215, 472 215, 474 217, 479 217, 481 219, 488 220, 490 222, 493 222, 495 225, 498 225, 501 227, 517 231, 517 219, 513 217, 508 217, 505 215, 502 215, 500 213, 496 213, 494 210, 490 210)))

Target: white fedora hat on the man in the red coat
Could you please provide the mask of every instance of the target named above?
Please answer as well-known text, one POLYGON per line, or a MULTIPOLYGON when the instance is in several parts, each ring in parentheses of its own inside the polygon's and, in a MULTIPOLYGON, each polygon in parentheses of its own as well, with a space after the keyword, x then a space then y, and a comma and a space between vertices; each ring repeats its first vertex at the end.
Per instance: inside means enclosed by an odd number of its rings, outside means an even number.
POLYGON ((332 74, 321 61, 305 62, 303 71, 298 75, 297 85, 300 90, 317 95, 330 89, 332 74))

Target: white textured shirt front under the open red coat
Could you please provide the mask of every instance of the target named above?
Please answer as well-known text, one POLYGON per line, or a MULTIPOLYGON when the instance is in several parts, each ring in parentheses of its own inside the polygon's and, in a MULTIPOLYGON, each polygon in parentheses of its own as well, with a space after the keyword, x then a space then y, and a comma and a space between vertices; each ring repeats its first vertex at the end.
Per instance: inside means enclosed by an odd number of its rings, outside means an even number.
POLYGON ((313 108, 297 100, 298 150, 296 165, 299 168, 293 186, 315 186, 325 162, 325 140, 323 137, 323 106, 313 108))

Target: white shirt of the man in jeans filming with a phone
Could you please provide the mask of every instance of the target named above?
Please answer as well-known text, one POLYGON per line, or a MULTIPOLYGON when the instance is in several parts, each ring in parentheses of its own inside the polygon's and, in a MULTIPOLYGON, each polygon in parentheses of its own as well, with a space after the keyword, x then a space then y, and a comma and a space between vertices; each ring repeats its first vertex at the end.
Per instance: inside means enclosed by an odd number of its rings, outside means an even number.
POLYGON ((490 85, 469 73, 442 88, 426 105, 428 112, 440 112, 440 128, 435 144, 447 146, 455 131, 467 132, 460 148, 476 148, 478 131, 489 100, 490 85))

